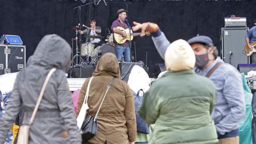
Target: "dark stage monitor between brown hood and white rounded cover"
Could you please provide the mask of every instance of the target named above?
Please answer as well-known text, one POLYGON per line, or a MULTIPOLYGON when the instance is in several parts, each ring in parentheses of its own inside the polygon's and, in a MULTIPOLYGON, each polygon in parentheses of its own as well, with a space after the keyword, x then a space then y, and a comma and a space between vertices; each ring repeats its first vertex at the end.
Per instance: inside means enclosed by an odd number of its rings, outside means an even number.
POLYGON ((121 79, 128 82, 129 75, 131 73, 132 68, 137 65, 143 68, 144 63, 143 62, 120 62, 119 68, 121 73, 121 79))

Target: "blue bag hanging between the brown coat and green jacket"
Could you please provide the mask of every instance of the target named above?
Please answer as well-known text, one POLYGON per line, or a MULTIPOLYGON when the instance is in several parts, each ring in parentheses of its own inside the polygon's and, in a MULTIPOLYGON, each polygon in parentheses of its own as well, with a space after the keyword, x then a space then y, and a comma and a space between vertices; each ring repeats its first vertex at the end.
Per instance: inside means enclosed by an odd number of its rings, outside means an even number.
MULTIPOLYGON (((139 96, 140 91, 143 92, 142 89, 140 89, 137 94, 133 92, 133 98, 134 98, 134 106, 135 106, 135 116, 136 116, 136 123, 137 123, 137 132, 139 133, 149 133, 149 125, 140 117, 138 111, 140 109, 141 103, 143 101, 143 97, 139 96)), ((143 92, 144 95, 144 92, 143 92)))

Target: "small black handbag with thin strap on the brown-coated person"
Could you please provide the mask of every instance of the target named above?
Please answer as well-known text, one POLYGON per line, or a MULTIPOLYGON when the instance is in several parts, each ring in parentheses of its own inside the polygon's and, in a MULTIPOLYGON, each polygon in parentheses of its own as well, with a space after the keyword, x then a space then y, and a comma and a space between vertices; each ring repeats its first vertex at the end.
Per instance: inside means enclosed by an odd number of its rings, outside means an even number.
POLYGON ((103 99, 100 103, 99 109, 98 109, 95 117, 90 116, 89 118, 85 118, 84 123, 83 123, 82 128, 81 128, 83 141, 88 141, 97 134, 97 129, 98 129, 97 116, 99 114, 102 103, 103 103, 103 101, 104 101, 104 99, 105 99, 105 97, 108 93, 108 90, 110 89, 111 84, 113 83, 114 79, 115 79, 115 77, 113 79, 111 79, 110 83, 107 85, 106 93, 105 93, 105 95, 104 95, 104 97, 103 97, 103 99))

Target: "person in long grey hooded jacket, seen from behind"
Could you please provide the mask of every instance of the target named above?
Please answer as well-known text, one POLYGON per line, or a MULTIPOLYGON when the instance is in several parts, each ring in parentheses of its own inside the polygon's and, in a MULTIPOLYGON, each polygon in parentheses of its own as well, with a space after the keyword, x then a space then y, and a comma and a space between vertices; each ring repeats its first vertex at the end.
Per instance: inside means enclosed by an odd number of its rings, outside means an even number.
POLYGON ((53 67, 57 70, 46 86, 30 126, 29 143, 82 142, 64 71, 70 55, 71 47, 58 35, 46 35, 39 42, 27 68, 21 70, 15 79, 10 103, 0 119, 0 143, 4 143, 20 108, 25 111, 22 123, 28 124, 46 75, 53 67))

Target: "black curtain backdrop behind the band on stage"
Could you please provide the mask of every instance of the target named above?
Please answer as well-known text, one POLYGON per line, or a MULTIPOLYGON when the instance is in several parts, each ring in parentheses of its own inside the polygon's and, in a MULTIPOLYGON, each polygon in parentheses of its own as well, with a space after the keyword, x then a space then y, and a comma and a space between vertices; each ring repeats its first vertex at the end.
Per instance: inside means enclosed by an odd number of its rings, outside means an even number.
MULTIPOLYGON (((89 2, 89 0, 88 0, 89 2)), ((103 0, 99 5, 86 5, 81 8, 81 22, 89 26, 89 18, 97 19, 102 33, 115 20, 118 9, 127 9, 129 22, 158 23, 166 37, 172 42, 175 39, 189 39, 197 34, 208 35, 220 49, 220 29, 223 18, 234 14, 247 17, 247 26, 256 22, 255 1, 109 1, 103 0)), ((86 2, 87 3, 87 2, 86 2)), ((0 35, 19 35, 26 45, 27 58, 33 54, 38 42, 46 34, 58 34, 70 43, 75 31, 68 27, 78 23, 76 6, 81 1, 68 0, 1 0, 0 1, 0 35)), ((157 53, 151 37, 135 38, 137 61, 146 60, 150 74, 156 63, 163 62, 157 53)), ((242 49, 242 48, 241 48, 242 49)), ((0 56, 2 57, 2 56, 0 56)))

